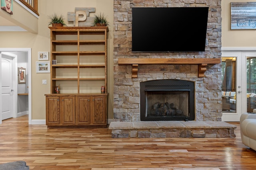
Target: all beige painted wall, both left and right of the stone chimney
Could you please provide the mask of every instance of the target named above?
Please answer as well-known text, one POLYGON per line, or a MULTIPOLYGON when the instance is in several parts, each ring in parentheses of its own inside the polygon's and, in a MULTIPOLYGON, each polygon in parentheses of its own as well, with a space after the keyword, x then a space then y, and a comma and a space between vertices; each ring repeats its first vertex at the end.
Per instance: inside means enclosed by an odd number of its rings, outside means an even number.
MULTIPOLYGON (((254 2, 254 0, 222 0, 222 47, 255 47, 256 29, 230 30, 230 2, 254 2)), ((74 12, 75 7, 95 7, 96 13, 103 12, 110 21, 108 36, 108 92, 110 93, 108 118, 113 119, 113 0, 38 0, 38 3, 40 14, 38 34, 29 32, 0 32, 0 48, 32 49, 32 120, 45 119, 44 94, 50 93, 50 74, 36 73, 38 51, 50 52, 48 16, 55 12, 66 17, 67 12, 74 12), (46 79, 48 84, 42 84, 42 79, 46 79)), ((15 6, 18 6, 18 4, 15 6)), ((21 10, 20 7, 15 7, 14 13, 18 14, 19 10, 21 10)), ((10 16, 8 17, 10 18, 10 16)), ((36 22, 31 18, 24 17, 24 20, 23 23, 28 21, 36 22)))

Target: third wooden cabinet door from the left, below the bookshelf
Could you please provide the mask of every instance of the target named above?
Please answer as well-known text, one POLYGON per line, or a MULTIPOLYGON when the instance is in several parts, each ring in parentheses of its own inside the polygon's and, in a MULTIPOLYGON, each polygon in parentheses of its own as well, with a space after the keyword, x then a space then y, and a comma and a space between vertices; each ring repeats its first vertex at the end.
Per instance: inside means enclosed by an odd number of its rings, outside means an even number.
POLYGON ((90 96, 76 98, 76 124, 90 124, 90 96))

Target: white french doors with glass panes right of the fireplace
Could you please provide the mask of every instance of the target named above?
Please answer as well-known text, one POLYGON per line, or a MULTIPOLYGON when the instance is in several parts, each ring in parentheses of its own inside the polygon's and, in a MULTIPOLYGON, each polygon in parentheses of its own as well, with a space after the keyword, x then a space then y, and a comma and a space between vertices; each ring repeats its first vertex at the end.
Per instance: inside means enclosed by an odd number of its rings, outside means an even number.
POLYGON ((254 108, 256 49, 222 50, 222 121, 240 121, 254 108))

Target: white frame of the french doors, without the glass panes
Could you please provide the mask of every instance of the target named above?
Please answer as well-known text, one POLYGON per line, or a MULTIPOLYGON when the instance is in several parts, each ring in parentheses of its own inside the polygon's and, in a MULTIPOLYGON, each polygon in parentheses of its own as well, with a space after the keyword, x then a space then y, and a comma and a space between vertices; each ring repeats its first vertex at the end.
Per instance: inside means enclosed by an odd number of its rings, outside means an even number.
MULTIPOLYGON (((235 119, 237 117, 240 118, 241 114, 244 112, 247 112, 247 101, 242 100, 246 98, 246 92, 247 92, 247 80, 246 80, 246 71, 242 72, 242 70, 246 70, 246 53, 247 52, 252 52, 256 53, 256 47, 222 47, 222 53, 227 52, 227 53, 232 53, 232 52, 241 52, 241 63, 237 63, 237 66, 241 66, 240 68, 238 67, 237 69, 241 70, 238 72, 239 74, 237 76, 240 76, 241 78, 241 84, 237 82, 236 84, 236 91, 241 91, 241 98, 238 98, 238 103, 241 104, 241 107, 237 107, 236 113, 222 113, 222 121, 239 121, 238 119, 235 119), (245 58, 243 58, 245 57, 245 58), (238 90, 238 86, 241 86, 241 88, 238 90), (241 100, 241 101, 239 101, 241 100), (231 116, 231 117, 230 117, 231 116)), ((225 57, 225 56, 223 56, 225 57)))

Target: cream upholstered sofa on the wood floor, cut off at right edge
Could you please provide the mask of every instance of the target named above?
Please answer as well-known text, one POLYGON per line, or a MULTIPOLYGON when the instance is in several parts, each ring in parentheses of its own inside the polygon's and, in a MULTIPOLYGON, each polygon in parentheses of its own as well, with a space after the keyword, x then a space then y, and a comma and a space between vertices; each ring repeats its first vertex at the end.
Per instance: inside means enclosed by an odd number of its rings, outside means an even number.
POLYGON ((240 117, 242 143, 256 150, 256 113, 243 113, 240 117))

